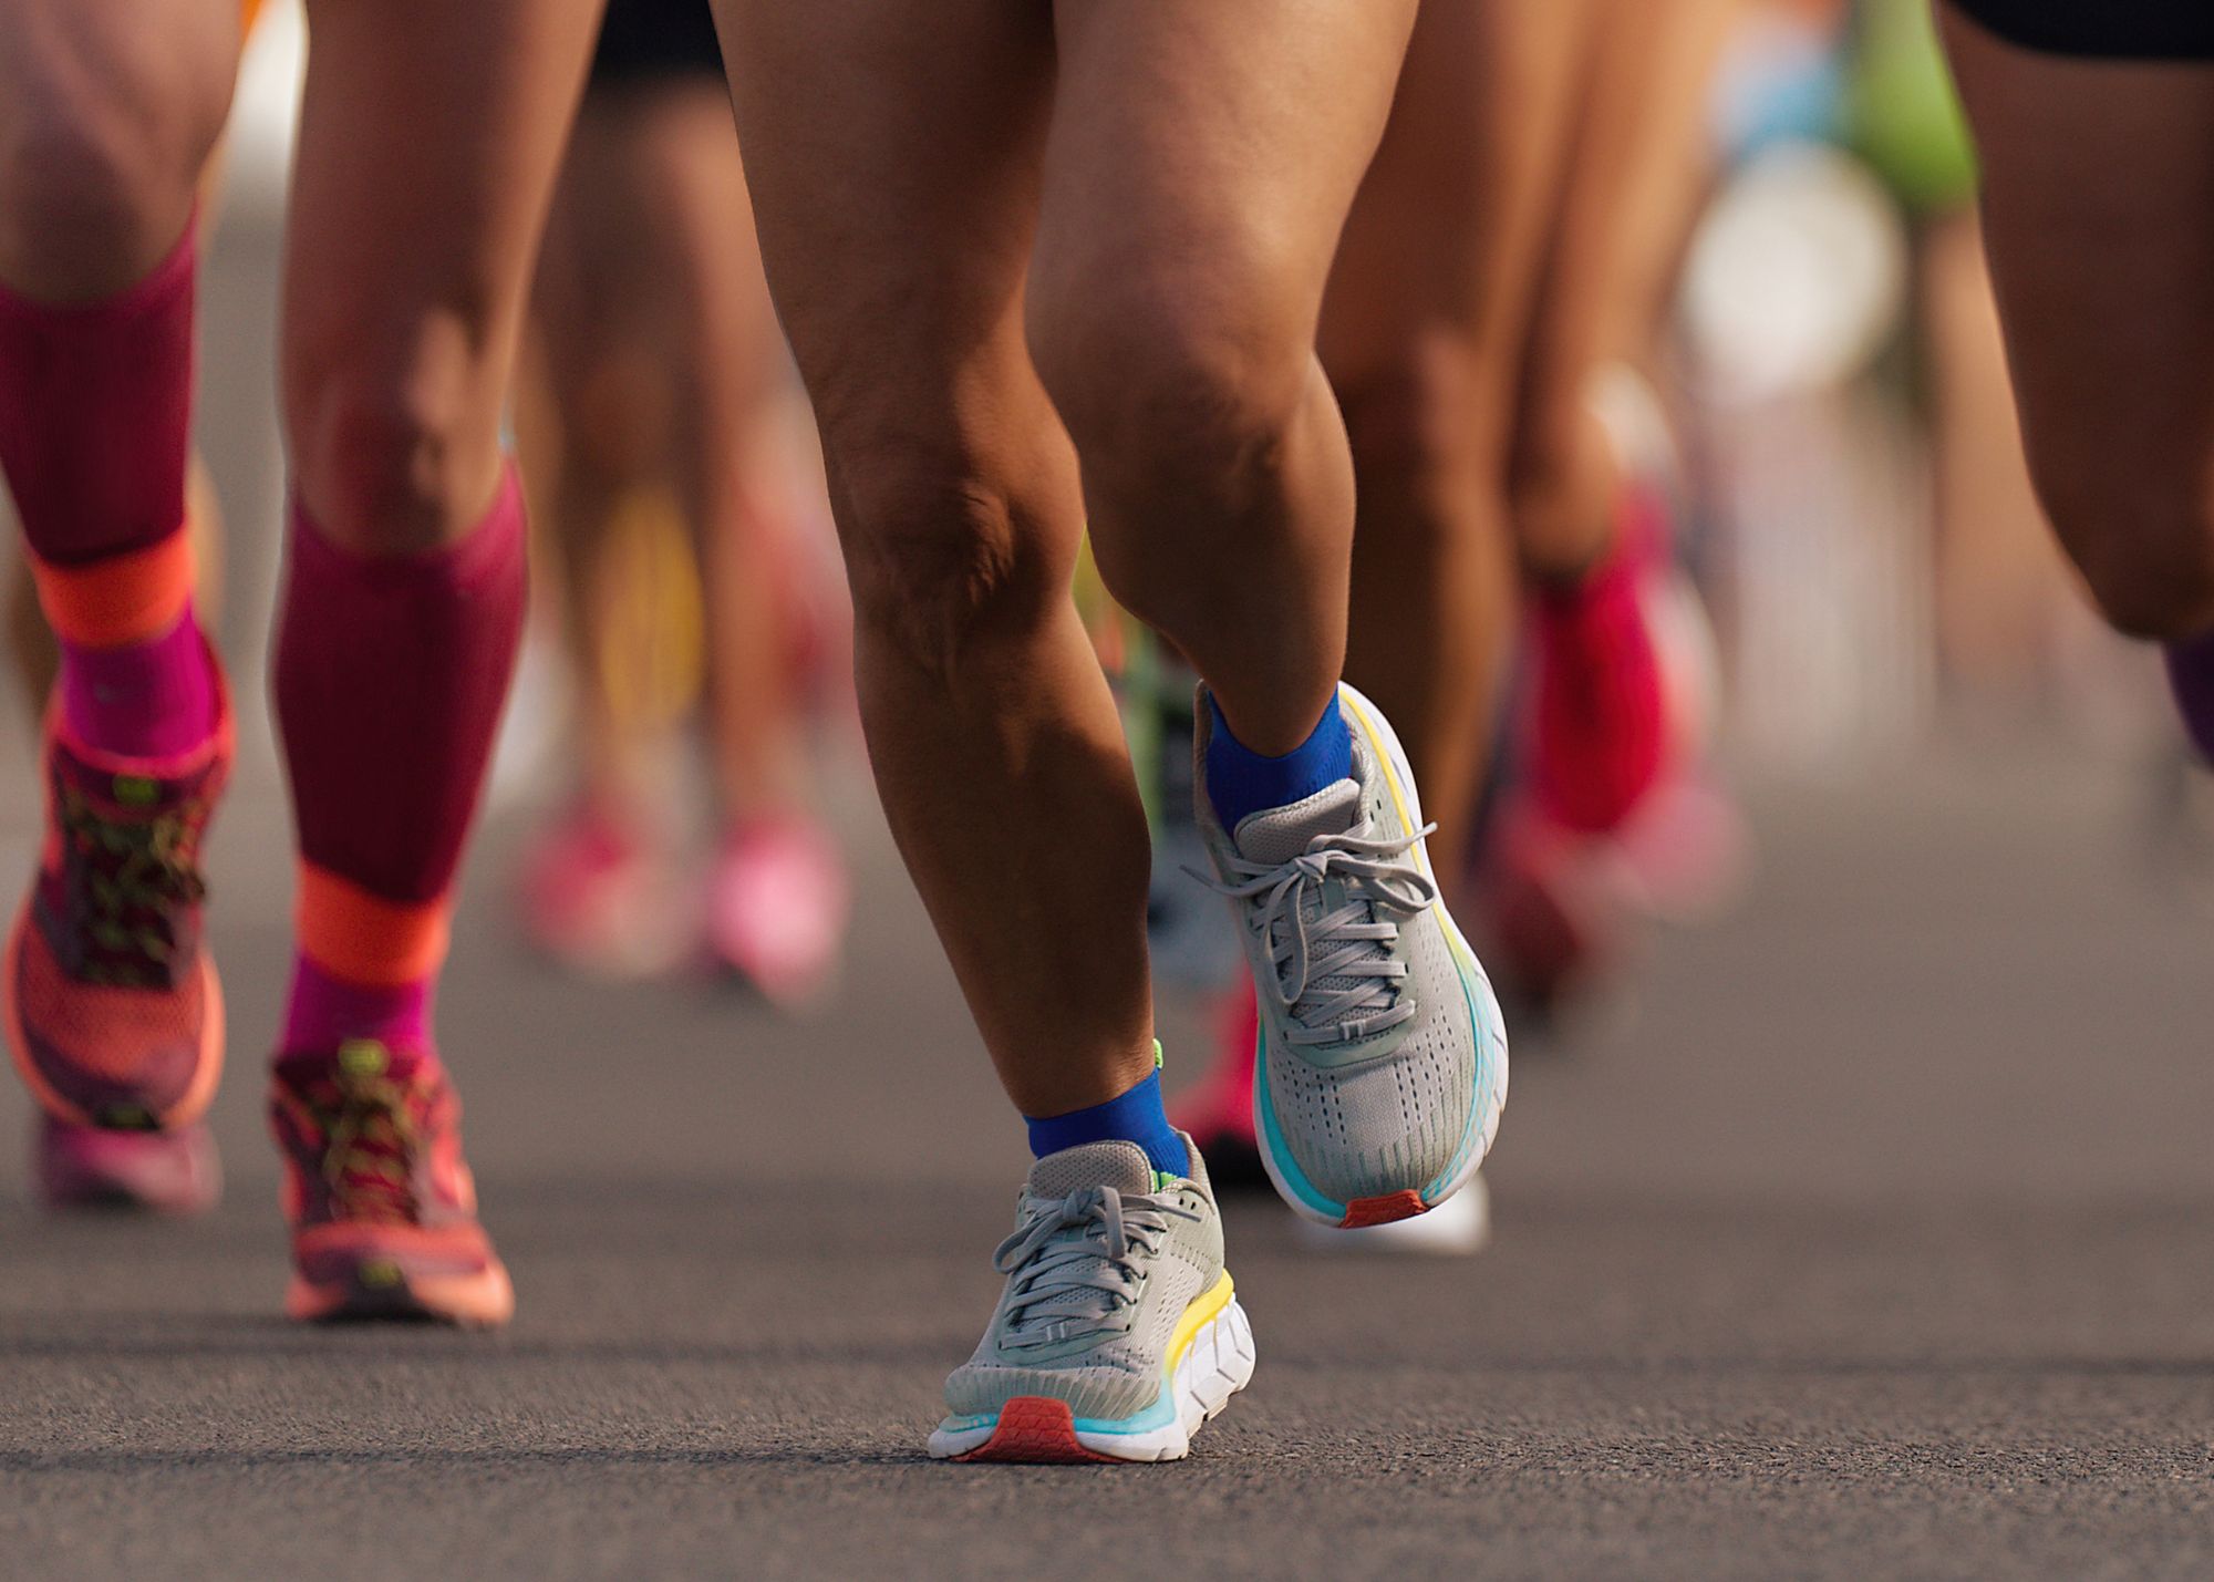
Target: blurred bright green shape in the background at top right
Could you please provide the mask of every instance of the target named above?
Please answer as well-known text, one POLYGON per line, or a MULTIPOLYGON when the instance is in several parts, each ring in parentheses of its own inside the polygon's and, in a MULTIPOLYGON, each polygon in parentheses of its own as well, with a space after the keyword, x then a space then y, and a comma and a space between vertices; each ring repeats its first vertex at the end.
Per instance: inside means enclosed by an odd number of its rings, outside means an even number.
POLYGON ((1913 210, 1944 213, 1975 199, 1975 144, 1931 0, 1862 0, 1846 142, 1913 210))

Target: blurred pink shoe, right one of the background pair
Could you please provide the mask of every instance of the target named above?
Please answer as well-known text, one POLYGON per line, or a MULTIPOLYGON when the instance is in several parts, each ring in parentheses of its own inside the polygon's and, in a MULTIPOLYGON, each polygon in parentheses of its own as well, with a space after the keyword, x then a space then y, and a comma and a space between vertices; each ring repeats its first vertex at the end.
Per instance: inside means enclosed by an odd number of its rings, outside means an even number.
POLYGON ((715 959, 775 1006, 824 995, 846 942, 846 864, 804 818, 735 826, 708 880, 706 942, 715 959))

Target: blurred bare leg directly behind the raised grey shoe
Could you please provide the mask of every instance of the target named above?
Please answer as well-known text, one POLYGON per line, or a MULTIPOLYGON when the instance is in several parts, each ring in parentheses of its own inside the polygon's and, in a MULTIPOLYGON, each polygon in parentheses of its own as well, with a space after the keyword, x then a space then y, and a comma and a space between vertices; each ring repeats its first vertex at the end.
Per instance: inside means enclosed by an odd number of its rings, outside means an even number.
POLYGON ((1448 811, 1430 844, 1448 886, 1517 629, 1508 436, 1587 9, 1421 9, 1322 317, 1359 476, 1346 676, 1448 811))

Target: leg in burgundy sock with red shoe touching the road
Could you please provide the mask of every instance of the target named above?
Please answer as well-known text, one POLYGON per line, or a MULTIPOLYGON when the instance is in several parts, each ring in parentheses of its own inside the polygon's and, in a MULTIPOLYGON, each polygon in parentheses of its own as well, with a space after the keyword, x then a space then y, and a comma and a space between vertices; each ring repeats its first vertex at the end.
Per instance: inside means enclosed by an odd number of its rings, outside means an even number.
POLYGON ((283 323, 297 510, 275 656, 301 838, 272 1108, 294 1168, 297 1316, 498 1323, 511 1305, 465 1223, 430 995, 520 636, 523 501, 500 412, 593 22, 571 0, 312 7, 283 323), (361 1190, 427 1179, 463 1223, 423 1245, 363 1234, 356 1181, 325 1157, 339 1139, 321 1117, 341 1101, 405 1110, 394 1137, 425 1154, 403 1143, 410 1168, 387 1161, 361 1190))

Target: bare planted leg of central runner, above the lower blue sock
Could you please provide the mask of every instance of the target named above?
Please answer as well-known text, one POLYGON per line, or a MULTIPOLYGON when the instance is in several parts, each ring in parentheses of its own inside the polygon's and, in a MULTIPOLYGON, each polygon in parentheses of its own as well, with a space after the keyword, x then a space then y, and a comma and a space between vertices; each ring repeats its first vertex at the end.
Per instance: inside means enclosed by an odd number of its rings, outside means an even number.
POLYGON ((1147 833, 1069 598, 1076 459, 1023 348, 1049 18, 717 11, 886 815, 1007 1097, 1030 1117, 1105 1103, 1153 1070, 1147 833))

